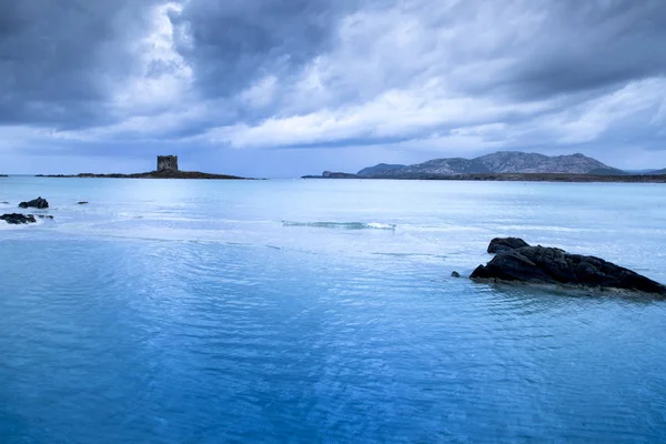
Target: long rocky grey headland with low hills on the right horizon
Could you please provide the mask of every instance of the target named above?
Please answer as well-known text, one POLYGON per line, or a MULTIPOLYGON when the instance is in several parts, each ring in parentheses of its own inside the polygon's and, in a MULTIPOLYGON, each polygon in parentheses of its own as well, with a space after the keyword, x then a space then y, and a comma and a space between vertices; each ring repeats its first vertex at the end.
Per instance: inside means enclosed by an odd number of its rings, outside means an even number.
POLYGON ((501 151, 474 159, 434 159, 413 165, 380 163, 355 174, 324 171, 303 179, 396 179, 532 182, 666 182, 666 169, 636 174, 583 154, 501 151))

